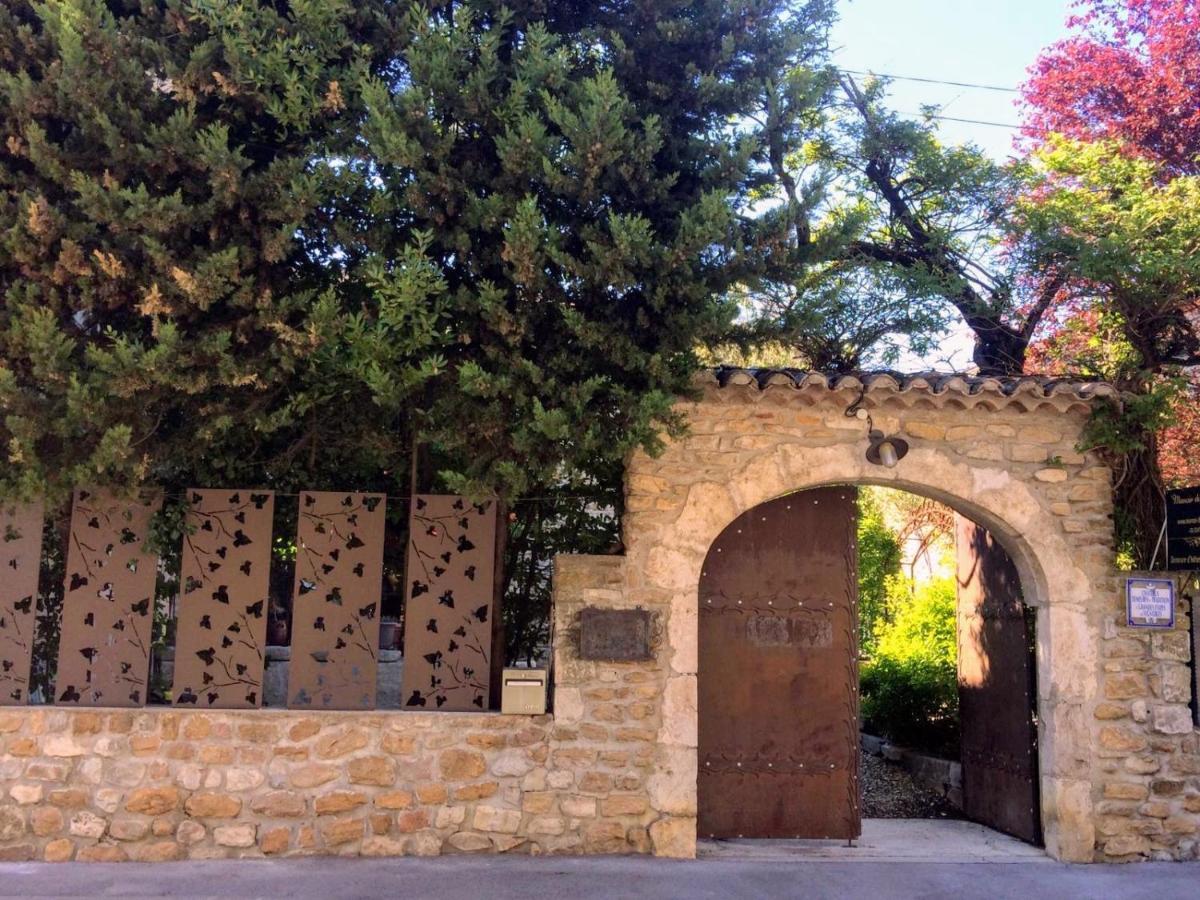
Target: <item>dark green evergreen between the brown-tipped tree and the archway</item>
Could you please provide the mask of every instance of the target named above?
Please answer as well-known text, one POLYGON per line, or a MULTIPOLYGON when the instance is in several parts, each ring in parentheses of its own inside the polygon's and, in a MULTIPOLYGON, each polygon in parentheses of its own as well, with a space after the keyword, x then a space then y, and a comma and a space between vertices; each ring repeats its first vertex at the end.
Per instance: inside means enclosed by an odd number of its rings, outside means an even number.
POLYGON ((828 22, 827 4, 754 7, 402 17, 392 67, 360 83, 348 166, 370 197, 349 252, 391 259, 427 235, 450 341, 409 415, 448 487, 574 490, 682 427, 672 404, 754 257, 734 216, 762 167, 752 116, 828 22))

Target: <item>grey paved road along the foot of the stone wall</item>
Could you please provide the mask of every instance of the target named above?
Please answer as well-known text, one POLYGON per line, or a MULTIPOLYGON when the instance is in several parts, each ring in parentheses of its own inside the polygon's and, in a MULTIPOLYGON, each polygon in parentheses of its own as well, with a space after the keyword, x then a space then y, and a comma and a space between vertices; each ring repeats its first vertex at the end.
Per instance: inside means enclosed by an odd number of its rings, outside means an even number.
POLYGON ((1174 900, 1200 896, 1200 864, 827 863, 629 857, 442 857, 156 864, 0 864, 8 898, 988 898, 1174 900))

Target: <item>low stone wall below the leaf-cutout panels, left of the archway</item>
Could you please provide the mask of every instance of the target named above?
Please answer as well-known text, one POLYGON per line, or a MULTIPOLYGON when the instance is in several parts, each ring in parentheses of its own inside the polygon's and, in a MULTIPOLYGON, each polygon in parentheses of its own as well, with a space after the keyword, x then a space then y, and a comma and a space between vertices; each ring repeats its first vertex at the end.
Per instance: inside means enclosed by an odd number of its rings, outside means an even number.
MULTIPOLYGON (((557 630, 622 577, 560 560, 557 630)), ((557 718, 2 710, 0 859, 686 852, 650 802, 661 664, 556 664, 557 718)))

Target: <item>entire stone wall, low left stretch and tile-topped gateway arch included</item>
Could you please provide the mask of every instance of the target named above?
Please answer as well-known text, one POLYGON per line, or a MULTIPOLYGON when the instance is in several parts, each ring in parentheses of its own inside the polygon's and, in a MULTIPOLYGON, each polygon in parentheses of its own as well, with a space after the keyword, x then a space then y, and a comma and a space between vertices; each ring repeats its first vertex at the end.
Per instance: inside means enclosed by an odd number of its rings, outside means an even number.
POLYGON ((703 389, 685 437, 626 475, 624 557, 560 557, 553 715, 0 712, 0 859, 696 847, 697 586, 713 540, 791 491, 883 484, 995 534, 1037 608, 1042 820, 1076 862, 1189 858, 1200 733, 1187 619, 1122 626, 1110 472, 1086 397, 757 384, 703 389), (865 461, 865 424, 911 451, 865 461), (581 660, 584 606, 653 616, 647 662, 581 660))

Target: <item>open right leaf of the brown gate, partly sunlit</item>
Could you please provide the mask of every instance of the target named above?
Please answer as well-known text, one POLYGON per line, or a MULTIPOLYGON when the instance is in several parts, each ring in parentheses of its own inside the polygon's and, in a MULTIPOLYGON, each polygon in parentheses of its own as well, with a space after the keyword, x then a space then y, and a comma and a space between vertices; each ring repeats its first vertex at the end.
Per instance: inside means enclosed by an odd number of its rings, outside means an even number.
POLYGON ((955 520, 964 812, 1039 844, 1032 611, 1008 553, 986 529, 955 520))

